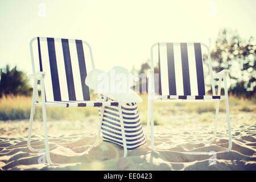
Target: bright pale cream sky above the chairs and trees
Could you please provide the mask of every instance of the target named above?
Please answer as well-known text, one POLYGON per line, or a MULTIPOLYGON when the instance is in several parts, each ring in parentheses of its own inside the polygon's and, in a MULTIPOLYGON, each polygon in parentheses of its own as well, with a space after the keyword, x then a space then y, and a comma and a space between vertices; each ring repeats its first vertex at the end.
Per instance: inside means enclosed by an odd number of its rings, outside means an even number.
POLYGON ((98 69, 131 70, 156 42, 209 44, 224 27, 256 38, 255 7, 255 0, 0 0, 0 68, 31 73, 29 42, 46 36, 85 40, 98 69))

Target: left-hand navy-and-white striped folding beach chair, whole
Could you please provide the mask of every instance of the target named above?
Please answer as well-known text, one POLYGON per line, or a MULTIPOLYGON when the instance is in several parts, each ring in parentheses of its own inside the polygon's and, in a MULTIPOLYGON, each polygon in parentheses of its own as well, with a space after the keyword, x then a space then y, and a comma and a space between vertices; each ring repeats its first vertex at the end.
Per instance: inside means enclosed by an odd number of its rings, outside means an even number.
MULTIPOLYGON (((34 80, 34 87, 27 145, 31 151, 42 151, 42 149, 32 148, 30 144, 35 106, 42 106, 46 144, 46 148, 43 150, 46 151, 47 162, 52 164, 49 156, 46 106, 116 106, 121 111, 123 103, 116 101, 90 101, 89 88, 85 84, 85 78, 88 69, 95 69, 95 67, 92 49, 85 41, 38 37, 31 40, 30 52, 33 72, 30 77, 34 80), (39 102, 38 98, 38 80, 40 80, 41 85, 42 102, 39 102)), ((100 97, 100 93, 98 93, 98 97, 100 97)), ((122 112, 119 117, 122 123, 122 112)), ((100 131, 100 129, 99 127, 98 130, 100 131)))

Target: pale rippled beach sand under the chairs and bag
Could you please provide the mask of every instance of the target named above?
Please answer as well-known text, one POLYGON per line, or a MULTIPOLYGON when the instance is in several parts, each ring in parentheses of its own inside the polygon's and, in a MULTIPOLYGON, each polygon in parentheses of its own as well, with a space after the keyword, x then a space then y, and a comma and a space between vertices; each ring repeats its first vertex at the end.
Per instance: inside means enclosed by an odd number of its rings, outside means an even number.
MULTIPOLYGON (((179 116, 180 117, 180 116, 179 116)), ((155 126, 155 151, 146 145, 128 152, 117 144, 96 140, 98 121, 48 121, 51 160, 44 164, 43 152, 27 147, 28 121, 0 121, 0 170, 256 170, 256 114, 231 116, 232 151, 228 147, 225 114, 220 114, 217 138, 213 122, 186 122, 175 115, 170 122, 155 126), (177 119, 179 119, 177 121, 177 119), (185 152, 205 152, 185 154, 185 152), (216 152, 216 155, 210 154, 216 152)), ((146 126, 143 126, 146 133, 146 126)), ((33 123, 31 145, 43 148, 43 123, 33 123)))

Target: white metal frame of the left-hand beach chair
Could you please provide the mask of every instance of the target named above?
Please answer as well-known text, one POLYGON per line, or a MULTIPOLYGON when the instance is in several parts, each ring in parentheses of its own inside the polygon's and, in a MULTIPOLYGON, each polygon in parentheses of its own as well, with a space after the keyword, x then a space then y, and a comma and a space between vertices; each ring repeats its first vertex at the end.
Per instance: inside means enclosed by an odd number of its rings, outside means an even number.
MULTIPOLYGON (((45 72, 35 72, 35 63, 34 63, 32 43, 36 39, 37 38, 33 38, 30 41, 30 55, 31 55, 31 63, 32 63, 32 72, 33 73, 32 73, 32 75, 29 75, 29 77, 34 80, 34 85, 33 85, 33 93, 32 93, 31 111, 30 111, 30 124, 29 124, 29 127, 28 127, 27 146, 31 151, 34 151, 34 152, 45 151, 46 152, 47 163, 52 164, 51 158, 50 158, 50 155, 49 155, 46 106, 65 107, 65 105, 63 105, 63 104, 47 105, 46 104, 46 95, 45 95, 45 90, 44 90, 44 76, 46 75, 46 73, 45 72), (38 94, 38 88, 37 88, 38 80, 40 80, 41 93, 42 93, 42 103, 39 102, 39 94, 38 94), (43 149, 35 149, 35 148, 31 147, 31 130, 32 130, 32 122, 34 120, 34 114, 35 114, 35 106, 42 106, 42 111, 43 111, 44 141, 45 141, 45 146, 46 146, 46 148, 43 148, 43 149)), ((69 39, 69 40, 74 40, 74 39, 69 39)), ((93 55, 92 55, 92 49, 91 49, 90 45, 87 42, 85 42, 84 40, 82 40, 82 43, 85 44, 89 48, 90 59, 92 61, 92 68, 95 69, 93 55)), ((101 98, 100 93, 98 93, 98 98, 101 98)), ((123 102, 118 102, 119 118, 120 118, 120 122, 121 122, 121 130, 122 130, 122 138, 123 138, 123 150, 124 150, 123 157, 126 157, 127 156, 127 146, 126 146, 125 129, 124 129, 124 126, 123 126, 123 117, 122 117, 122 105, 123 104, 124 104, 123 102)), ((102 101, 101 113, 104 113, 105 106, 109 106, 109 102, 102 101)), ((101 114, 101 118, 100 118, 100 125, 98 127, 97 139, 96 139, 96 142, 93 144, 92 147, 96 146, 99 139, 100 139, 102 119, 103 119, 103 114, 101 114)), ((88 152, 90 150, 90 148, 92 148, 92 147, 89 147, 89 149, 86 150, 85 153, 88 152)))

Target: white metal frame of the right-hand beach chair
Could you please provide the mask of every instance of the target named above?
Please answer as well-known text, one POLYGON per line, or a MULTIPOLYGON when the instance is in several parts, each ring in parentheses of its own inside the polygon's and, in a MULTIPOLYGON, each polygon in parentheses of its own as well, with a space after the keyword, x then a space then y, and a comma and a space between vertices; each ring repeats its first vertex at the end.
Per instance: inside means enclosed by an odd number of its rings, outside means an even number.
MULTIPOLYGON (((162 44, 162 43, 159 43, 162 44)), ((151 47, 151 68, 147 74, 148 77, 148 113, 147 113, 147 134, 148 138, 151 134, 151 147, 152 150, 155 150, 154 147, 154 102, 216 102, 216 113, 215 113, 215 122, 214 122, 214 134, 212 139, 205 141, 206 143, 210 143, 214 140, 216 137, 217 132, 217 122, 218 122, 218 111, 220 106, 220 100, 214 99, 214 100, 166 100, 162 96, 155 96, 155 84, 154 84, 154 59, 153 59, 153 48, 158 45, 158 43, 155 43, 151 47), (151 128, 151 129, 150 129, 151 128)), ((210 60, 210 51, 207 45, 201 43, 205 48, 207 48, 208 51, 208 64, 209 64, 209 71, 210 71, 210 81, 211 86, 213 90, 213 96, 216 96, 216 90, 215 90, 215 82, 216 79, 218 79, 218 88, 217 88, 217 96, 220 96, 221 94, 221 85, 222 85, 222 79, 224 80, 224 96, 221 96, 221 100, 225 100, 226 104, 226 119, 228 121, 228 135, 229 135, 229 146, 226 150, 226 152, 230 151, 232 148, 232 137, 231 137, 231 128, 230 128, 230 116, 229 116, 229 100, 228 100, 228 87, 227 87, 227 81, 226 81, 226 75, 229 72, 228 70, 224 69, 221 72, 218 72, 216 75, 213 75, 212 72, 212 62, 210 60)), ((193 154, 202 154, 206 152, 187 152, 187 153, 193 153, 193 154)), ((207 152, 208 154, 208 152, 207 152)))

